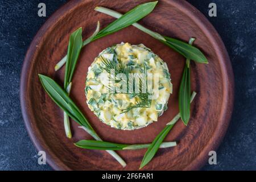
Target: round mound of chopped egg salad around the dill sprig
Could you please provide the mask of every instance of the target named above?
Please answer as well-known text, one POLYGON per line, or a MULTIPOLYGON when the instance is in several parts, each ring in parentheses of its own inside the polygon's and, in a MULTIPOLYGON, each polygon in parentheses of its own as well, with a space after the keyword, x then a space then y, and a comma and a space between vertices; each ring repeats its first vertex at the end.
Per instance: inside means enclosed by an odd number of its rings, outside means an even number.
POLYGON ((88 68, 85 85, 89 109, 102 122, 122 130, 139 129, 158 121, 158 117, 167 110, 168 99, 172 93, 167 64, 143 44, 121 43, 106 48, 88 68), (109 79, 106 79, 102 57, 109 61, 122 61, 133 73, 139 73, 141 68, 147 69, 147 73, 158 73, 158 97, 151 101, 150 107, 137 107, 123 113, 127 107, 136 105, 139 98, 131 97, 127 93, 109 92, 109 79))

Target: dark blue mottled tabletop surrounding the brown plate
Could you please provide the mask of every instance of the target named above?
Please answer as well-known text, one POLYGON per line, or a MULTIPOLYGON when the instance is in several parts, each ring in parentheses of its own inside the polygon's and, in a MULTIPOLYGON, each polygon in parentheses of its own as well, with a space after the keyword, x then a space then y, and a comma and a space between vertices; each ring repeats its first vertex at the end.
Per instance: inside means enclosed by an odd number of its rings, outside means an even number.
MULTIPOLYGON (((217 151, 217 165, 203 170, 256 169, 256 1, 189 0, 217 29, 228 49, 236 82, 232 121, 217 151), (208 5, 217 4, 217 17, 208 16, 208 5)), ((36 31, 64 0, 0 1, 0 169, 51 170, 39 165, 25 129, 19 102, 23 58, 36 31), (38 3, 47 6, 39 18, 38 3)))

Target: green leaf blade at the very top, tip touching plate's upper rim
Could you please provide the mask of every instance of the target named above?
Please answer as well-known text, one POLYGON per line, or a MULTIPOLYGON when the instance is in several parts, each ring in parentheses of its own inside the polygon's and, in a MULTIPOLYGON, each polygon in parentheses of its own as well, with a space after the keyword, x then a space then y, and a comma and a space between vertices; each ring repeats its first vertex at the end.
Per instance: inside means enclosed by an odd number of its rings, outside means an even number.
MULTIPOLYGON (((154 1, 136 6, 134 9, 128 11, 126 14, 122 15, 120 18, 110 23, 106 28, 101 30, 98 33, 98 35, 94 38, 94 40, 101 38, 102 36, 112 34, 113 32, 117 32, 118 30, 121 30, 122 28, 128 27, 131 24, 137 22, 144 16, 151 13, 151 11, 154 10, 157 3, 158 1, 154 1)), ((95 8, 96 11, 97 9, 99 9, 99 7, 95 8)))

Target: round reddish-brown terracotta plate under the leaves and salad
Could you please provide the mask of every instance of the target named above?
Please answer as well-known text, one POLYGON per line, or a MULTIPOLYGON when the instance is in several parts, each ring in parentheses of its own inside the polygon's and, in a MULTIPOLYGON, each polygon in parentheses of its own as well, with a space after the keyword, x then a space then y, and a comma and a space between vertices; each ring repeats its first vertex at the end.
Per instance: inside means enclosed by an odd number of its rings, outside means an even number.
MULTIPOLYGON (((38 73, 63 84, 64 69, 55 72, 54 66, 67 52, 71 32, 82 27, 83 38, 92 34, 97 20, 105 27, 114 18, 94 11, 105 6, 121 13, 146 1, 69 1, 54 13, 36 34, 28 48, 22 69, 20 100, 28 133, 38 150, 47 154, 53 169, 82 170, 136 170, 146 150, 118 151, 127 162, 122 168, 107 152, 83 150, 74 146, 80 139, 91 139, 72 121, 73 138, 65 137, 63 112, 44 92, 38 73)), ((209 64, 192 63, 192 90, 198 94, 191 108, 191 120, 185 127, 177 122, 166 141, 179 141, 177 147, 160 149, 155 158, 143 169, 189 170, 200 169, 208 153, 216 150, 229 125, 233 109, 234 83, 228 53, 220 36, 208 20, 189 3, 181 0, 159 1, 155 10, 140 22, 151 30, 187 42, 195 37, 209 64)), ((71 97, 92 123, 102 139, 117 143, 150 143, 178 113, 178 89, 185 59, 164 44, 132 26, 99 39, 82 49, 73 78, 71 97), (113 129, 89 110, 84 94, 85 77, 89 65, 106 47, 120 42, 143 43, 167 62, 171 72, 174 93, 168 110, 158 122, 135 131, 113 129)))

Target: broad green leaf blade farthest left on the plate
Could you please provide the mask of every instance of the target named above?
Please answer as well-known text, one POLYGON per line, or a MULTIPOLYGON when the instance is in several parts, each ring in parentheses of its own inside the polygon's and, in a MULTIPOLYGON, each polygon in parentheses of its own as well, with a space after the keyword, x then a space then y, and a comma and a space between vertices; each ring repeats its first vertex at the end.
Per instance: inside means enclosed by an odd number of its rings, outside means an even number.
POLYGON ((44 90, 48 93, 48 95, 52 98, 52 100, 69 115, 74 121, 79 123, 81 126, 85 126, 88 129, 93 131, 92 126, 81 113, 79 108, 75 105, 75 103, 69 98, 67 92, 65 92, 54 80, 51 78, 38 75, 40 81, 42 82, 44 90))

